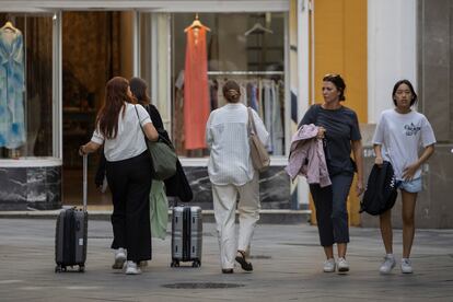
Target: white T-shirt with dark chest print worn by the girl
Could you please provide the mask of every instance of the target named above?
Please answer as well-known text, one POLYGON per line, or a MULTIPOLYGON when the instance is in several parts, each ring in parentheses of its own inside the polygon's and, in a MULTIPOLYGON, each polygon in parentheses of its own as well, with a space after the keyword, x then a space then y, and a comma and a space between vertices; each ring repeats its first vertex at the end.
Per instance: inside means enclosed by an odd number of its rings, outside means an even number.
MULTIPOLYGON (((415 111, 399 114, 386 109, 381 114, 373 143, 382 146, 382 158, 392 163, 396 179, 402 181, 405 167, 418 160, 420 147, 435 143, 435 137, 425 115, 415 111)), ((420 175, 421 169, 414 178, 420 175)))

